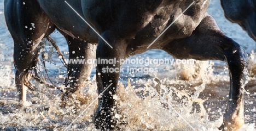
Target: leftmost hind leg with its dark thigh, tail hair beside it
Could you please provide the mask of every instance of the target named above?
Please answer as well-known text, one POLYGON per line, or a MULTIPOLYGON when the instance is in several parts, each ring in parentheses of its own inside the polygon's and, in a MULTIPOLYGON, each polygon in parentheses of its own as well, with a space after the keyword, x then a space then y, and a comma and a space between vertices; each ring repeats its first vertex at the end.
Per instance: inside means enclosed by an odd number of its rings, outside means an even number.
POLYGON ((32 89, 28 70, 36 66, 40 41, 53 32, 55 26, 36 1, 4 1, 4 15, 14 40, 15 83, 19 100, 26 101, 23 85, 32 89))

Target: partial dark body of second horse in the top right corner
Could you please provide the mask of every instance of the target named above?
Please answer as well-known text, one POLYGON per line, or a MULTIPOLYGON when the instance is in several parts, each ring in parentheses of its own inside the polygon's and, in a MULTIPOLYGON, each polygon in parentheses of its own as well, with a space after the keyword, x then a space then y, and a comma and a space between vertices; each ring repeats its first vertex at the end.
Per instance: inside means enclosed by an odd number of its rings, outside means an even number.
POLYGON ((256 1, 222 0, 220 1, 225 17, 239 24, 256 41, 256 1))

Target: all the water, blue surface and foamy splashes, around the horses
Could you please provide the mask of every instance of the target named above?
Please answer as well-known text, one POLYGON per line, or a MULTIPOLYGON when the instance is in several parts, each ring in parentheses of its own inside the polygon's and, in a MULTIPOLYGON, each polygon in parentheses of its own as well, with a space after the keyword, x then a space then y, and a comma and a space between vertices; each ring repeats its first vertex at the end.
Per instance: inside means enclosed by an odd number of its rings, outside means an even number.
MULTIPOLYGON (((246 32, 224 18, 219 1, 211 1, 208 13, 216 19, 223 32, 240 43, 248 53, 255 49, 255 42, 246 32)), ((52 36, 67 58, 65 39, 58 32, 52 36)), ((52 47, 45 48, 49 52, 52 47)), ((56 62, 46 64, 49 76, 53 83, 62 86, 66 69, 57 59, 57 54, 52 55, 51 58, 56 62)), ((86 109, 68 129, 95 130, 92 119, 97 101, 88 107, 97 97, 95 70, 92 71, 91 81, 73 94, 73 101, 68 103, 66 109, 59 107, 59 90, 45 88, 37 82, 33 84, 39 91, 29 91, 27 96, 29 106, 17 108, 12 56, 13 41, 5 26, 3 0, 0 0, 0 129, 65 130, 86 109)), ((249 92, 245 96, 246 124, 241 130, 255 130, 255 56, 252 53, 249 57, 250 77, 245 87, 249 92)), ((159 49, 133 55, 130 59, 139 57, 173 59, 159 49)), ((123 66, 145 67, 132 64, 123 66)), ((158 67, 161 70, 147 75, 127 72, 120 74, 118 93, 114 96, 118 104, 115 117, 120 130, 218 130, 216 127, 222 123, 229 92, 229 73, 225 63, 196 61, 195 65, 153 64, 148 67, 158 67)))

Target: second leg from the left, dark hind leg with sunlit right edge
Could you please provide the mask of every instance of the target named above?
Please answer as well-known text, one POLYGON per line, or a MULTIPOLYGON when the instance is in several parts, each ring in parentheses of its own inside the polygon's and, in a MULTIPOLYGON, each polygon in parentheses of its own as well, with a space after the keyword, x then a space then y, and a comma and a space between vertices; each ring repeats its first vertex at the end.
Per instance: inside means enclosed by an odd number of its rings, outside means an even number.
POLYGON ((88 59, 95 59, 96 45, 65 36, 68 42, 69 63, 67 78, 65 80, 66 89, 63 91, 62 106, 65 106, 65 99, 69 93, 75 92, 79 86, 83 86, 91 74, 93 64, 86 63, 88 59))

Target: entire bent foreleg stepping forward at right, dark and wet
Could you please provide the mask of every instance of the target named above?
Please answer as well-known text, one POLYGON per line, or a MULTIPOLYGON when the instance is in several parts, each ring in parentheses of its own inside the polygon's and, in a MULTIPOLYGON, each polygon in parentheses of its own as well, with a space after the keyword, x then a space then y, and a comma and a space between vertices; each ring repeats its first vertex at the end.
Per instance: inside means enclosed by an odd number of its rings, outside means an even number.
POLYGON ((230 92, 224 114, 224 129, 239 129, 245 121, 242 86, 246 84, 244 71, 247 69, 247 54, 244 49, 227 38, 213 18, 207 16, 189 38, 171 42, 164 50, 179 59, 226 61, 230 73, 230 92))

